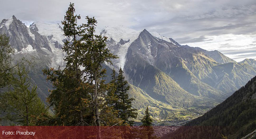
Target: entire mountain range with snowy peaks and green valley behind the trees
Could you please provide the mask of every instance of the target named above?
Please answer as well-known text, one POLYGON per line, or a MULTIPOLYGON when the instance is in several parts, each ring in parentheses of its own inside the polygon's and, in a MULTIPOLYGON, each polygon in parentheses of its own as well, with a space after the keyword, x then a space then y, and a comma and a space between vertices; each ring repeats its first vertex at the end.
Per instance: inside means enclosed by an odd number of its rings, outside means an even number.
MULTIPOLYGON (((29 76, 37 85, 39 97, 46 102, 52 88, 43 75, 44 68, 63 68, 66 39, 59 24, 34 22, 28 28, 15 16, 3 19, 0 34, 10 38, 14 59, 34 61, 29 76)), ((156 32, 107 26, 101 34, 108 37, 108 49, 119 58, 107 69, 122 68, 130 84, 133 107, 141 119, 149 106, 155 125, 179 125, 204 114, 256 76, 256 60, 236 62, 219 51, 180 45, 156 32)), ((139 120, 138 120, 139 121, 139 120)))

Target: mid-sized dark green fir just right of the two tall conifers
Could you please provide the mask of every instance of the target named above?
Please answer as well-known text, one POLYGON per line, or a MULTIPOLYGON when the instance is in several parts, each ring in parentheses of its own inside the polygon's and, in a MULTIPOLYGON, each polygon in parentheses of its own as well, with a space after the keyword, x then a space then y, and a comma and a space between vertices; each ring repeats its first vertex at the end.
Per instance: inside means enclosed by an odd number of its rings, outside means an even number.
MULTIPOLYGON (((119 69, 119 74, 116 79, 116 92, 115 94, 118 97, 118 101, 116 102, 115 108, 118 110, 118 116, 124 120, 124 124, 133 125, 134 121, 131 118, 136 119, 137 117, 137 109, 132 109, 131 102, 134 100, 133 98, 129 98, 128 91, 130 86, 128 82, 125 80, 124 72, 122 68, 119 69)), ((113 76, 113 75, 112 75, 113 76)))

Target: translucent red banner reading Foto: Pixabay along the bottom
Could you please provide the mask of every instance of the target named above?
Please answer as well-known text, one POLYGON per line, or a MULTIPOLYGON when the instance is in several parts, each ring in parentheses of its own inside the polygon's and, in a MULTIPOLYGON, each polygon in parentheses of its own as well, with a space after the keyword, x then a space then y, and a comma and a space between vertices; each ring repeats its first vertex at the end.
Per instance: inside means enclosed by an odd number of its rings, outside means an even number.
POLYGON ((149 138, 176 129, 177 126, 0 126, 0 138, 149 138))

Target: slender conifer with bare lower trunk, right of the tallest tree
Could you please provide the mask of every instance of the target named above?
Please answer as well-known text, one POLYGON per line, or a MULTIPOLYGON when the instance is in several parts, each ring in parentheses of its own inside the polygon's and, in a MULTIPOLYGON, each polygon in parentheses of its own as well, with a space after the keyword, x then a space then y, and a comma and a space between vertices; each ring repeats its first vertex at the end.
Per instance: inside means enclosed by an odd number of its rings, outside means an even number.
POLYGON ((102 64, 104 62, 110 63, 112 58, 117 58, 115 55, 110 53, 110 51, 106 48, 106 37, 102 37, 101 35, 95 35, 95 26, 97 24, 96 19, 87 18, 87 24, 85 25, 86 34, 82 35, 81 40, 84 40, 84 45, 86 46, 86 51, 83 53, 84 56, 81 57, 83 60, 82 66, 84 67, 84 71, 88 72, 91 75, 91 81, 94 82, 94 94, 92 95, 92 101, 95 108, 95 116, 96 116, 96 125, 98 126, 97 138, 101 138, 101 121, 100 121, 100 105, 104 101, 102 98, 105 98, 105 93, 107 91, 107 87, 105 85, 105 81, 102 77, 106 73, 106 69, 102 68, 102 64))

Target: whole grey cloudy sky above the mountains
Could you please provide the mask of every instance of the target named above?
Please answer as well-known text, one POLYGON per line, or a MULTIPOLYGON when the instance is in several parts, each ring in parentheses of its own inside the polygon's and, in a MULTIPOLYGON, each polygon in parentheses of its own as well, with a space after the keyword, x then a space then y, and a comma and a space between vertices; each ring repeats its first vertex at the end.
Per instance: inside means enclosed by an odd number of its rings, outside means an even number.
MULTIPOLYGON (((122 25, 157 31, 182 45, 219 50, 236 61, 256 58, 255 0, 0 0, 0 20, 15 15, 26 25, 60 23, 69 2, 98 30, 122 25)), ((83 19, 81 22, 84 22, 83 19)))

